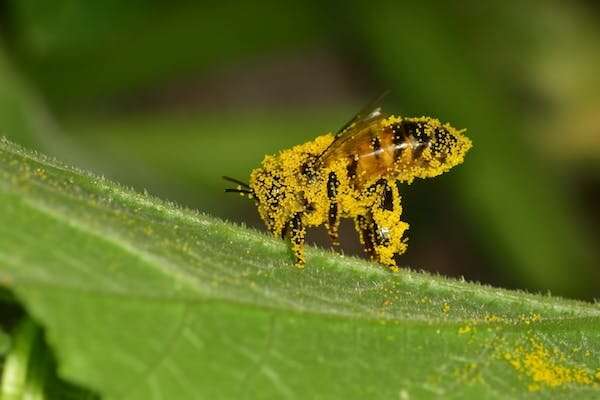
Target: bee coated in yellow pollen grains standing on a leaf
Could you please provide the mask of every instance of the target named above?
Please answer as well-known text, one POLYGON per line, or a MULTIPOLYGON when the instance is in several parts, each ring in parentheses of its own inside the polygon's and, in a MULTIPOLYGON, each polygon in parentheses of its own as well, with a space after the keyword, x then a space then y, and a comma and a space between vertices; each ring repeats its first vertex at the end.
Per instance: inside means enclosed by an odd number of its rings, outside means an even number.
POLYGON ((268 155, 236 192, 255 200, 275 236, 289 238, 295 264, 304 265, 306 228, 325 225, 339 246, 341 218, 352 218, 368 257, 398 270, 407 249, 401 220, 402 183, 438 176, 463 162, 471 141, 429 117, 386 115, 371 102, 337 133, 268 155))

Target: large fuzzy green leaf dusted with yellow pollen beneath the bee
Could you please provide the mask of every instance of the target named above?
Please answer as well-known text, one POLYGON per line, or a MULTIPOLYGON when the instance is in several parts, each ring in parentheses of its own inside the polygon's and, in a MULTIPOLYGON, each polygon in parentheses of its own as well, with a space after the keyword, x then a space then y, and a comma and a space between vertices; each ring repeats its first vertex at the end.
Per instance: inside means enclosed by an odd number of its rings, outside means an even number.
POLYGON ((0 282, 104 398, 600 395, 600 307, 309 249, 3 141, 0 282))

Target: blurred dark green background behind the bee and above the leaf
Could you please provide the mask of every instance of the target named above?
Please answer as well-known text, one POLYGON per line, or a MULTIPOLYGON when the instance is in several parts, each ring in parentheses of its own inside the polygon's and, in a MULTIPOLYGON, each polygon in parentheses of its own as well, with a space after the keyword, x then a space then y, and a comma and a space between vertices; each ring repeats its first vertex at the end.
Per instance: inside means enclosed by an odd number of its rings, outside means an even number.
MULTIPOLYGON (((221 175, 390 89, 387 112, 474 142, 406 186, 405 264, 582 299, 600 297, 598 71, 591 1, 0 1, 0 135, 263 229, 221 175)), ((359 253, 351 224, 342 241, 359 253)))

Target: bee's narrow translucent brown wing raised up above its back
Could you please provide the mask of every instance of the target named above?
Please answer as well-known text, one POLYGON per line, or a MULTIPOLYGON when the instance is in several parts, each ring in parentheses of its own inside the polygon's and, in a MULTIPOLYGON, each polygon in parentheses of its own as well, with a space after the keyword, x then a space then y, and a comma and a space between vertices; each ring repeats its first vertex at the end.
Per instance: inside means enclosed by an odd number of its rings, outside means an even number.
POLYGON ((380 119, 386 118, 386 115, 381 112, 381 102, 385 96, 387 96, 389 90, 381 93, 375 99, 371 100, 365 107, 363 107, 354 118, 348 121, 342 126, 335 134, 335 139, 331 144, 321 153, 318 157, 317 162, 321 163, 323 160, 339 149, 344 143, 349 140, 358 138, 361 132, 365 132, 367 126, 373 124, 373 122, 380 119))

